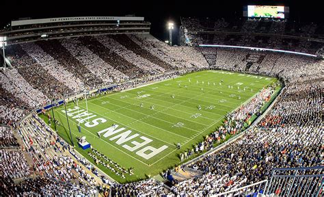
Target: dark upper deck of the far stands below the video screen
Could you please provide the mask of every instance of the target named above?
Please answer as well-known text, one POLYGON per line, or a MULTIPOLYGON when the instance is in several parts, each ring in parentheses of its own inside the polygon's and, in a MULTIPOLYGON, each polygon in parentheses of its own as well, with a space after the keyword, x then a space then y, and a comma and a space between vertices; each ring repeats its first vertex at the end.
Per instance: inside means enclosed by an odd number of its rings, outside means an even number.
MULTIPOLYGON (((222 44, 282 49, 315 54, 323 44, 323 24, 293 23, 277 18, 181 18, 187 44, 222 44), (205 33, 205 32, 208 33, 205 33), (211 34, 213 31, 213 34, 211 34)), ((185 40, 185 39, 184 39, 185 40)))

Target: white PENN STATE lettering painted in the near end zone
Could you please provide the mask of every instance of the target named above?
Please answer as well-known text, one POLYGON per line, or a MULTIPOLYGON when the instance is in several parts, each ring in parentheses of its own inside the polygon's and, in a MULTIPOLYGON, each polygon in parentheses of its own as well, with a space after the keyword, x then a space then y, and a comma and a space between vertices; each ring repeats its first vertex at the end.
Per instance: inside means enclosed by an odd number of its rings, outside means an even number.
MULTIPOLYGON (((64 109, 61 111, 62 113, 65 113, 64 109)), ((88 128, 96 127, 99 124, 107 122, 105 118, 96 117, 96 114, 88 113, 87 111, 85 111, 85 109, 80 109, 77 106, 68 108, 67 114, 77 122, 84 123, 84 126, 88 128)), ((97 134, 100 137, 109 137, 110 141, 116 140, 116 144, 131 152, 136 151, 135 154, 143 157, 144 159, 150 159, 169 147, 166 145, 163 145, 160 148, 147 146, 148 144, 153 142, 153 140, 148 137, 141 136, 139 135, 139 133, 134 133, 129 129, 125 129, 124 127, 118 127, 118 124, 113 124, 113 126, 111 127, 98 131, 97 134), (101 135, 102 133, 103 135, 101 135), (137 137, 138 140, 134 140, 135 137, 137 137), (126 142, 130 142, 132 145, 130 146, 128 144, 125 144, 126 142)))

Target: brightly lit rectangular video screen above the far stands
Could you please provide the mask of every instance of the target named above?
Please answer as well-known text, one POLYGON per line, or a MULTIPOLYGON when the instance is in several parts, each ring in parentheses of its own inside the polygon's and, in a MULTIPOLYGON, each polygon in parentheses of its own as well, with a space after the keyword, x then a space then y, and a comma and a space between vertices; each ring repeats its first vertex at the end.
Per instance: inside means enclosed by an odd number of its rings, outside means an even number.
POLYGON ((284 18, 284 6, 247 5, 247 17, 284 18))

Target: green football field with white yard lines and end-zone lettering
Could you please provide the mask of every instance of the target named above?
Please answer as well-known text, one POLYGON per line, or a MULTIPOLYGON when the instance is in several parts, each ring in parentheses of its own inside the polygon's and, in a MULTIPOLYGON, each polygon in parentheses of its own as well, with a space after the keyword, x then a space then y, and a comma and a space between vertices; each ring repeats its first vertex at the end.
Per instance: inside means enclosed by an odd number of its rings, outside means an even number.
MULTIPOLYGON (((146 179, 179 164, 180 153, 202 142, 223 124, 226 114, 275 81, 271 77, 205 70, 88 99, 88 114, 85 100, 79 101, 79 109, 70 102, 67 108, 72 139, 79 153, 92 163, 94 159, 87 155, 92 151, 77 147, 76 137, 85 136, 87 142, 118 166, 134 169, 135 174, 125 174, 124 179, 98 164, 116 181, 146 179), (178 143, 180 150, 176 148, 178 143)), ((60 122, 59 135, 71 143, 64 106, 54 111, 60 122)), ((116 166, 110 166, 118 171, 116 166)))

